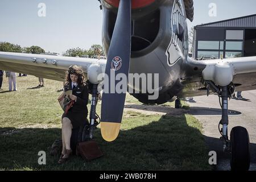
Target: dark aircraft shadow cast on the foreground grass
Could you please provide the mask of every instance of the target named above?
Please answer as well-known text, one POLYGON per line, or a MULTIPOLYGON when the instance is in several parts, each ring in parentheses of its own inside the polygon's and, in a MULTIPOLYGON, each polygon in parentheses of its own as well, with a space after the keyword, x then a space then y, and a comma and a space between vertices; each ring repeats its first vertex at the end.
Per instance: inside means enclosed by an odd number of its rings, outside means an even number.
POLYGON ((94 140, 104 156, 91 162, 72 156, 66 164, 57 164, 59 156, 50 156, 47 151, 47 147, 61 137, 61 129, 0 128, 0 169, 210 170, 204 136, 189 125, 185 115, 164 115, 148 125, 121 130, 111 143, 105 142, 100 129, 96 129, 94 140), (8 134, 10 130, 16 132, 8 134), (46 165, 38 164, 39 151, 46 151, 46 165))

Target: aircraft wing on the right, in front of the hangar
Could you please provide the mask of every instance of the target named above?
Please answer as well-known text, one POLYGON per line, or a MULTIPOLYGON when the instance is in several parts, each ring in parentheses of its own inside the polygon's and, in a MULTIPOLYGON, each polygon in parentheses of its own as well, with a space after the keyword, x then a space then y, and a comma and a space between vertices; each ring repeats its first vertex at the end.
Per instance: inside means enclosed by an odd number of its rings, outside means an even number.
POLYGON ((206 95, 204 81, 213 81, 217 86, 225 86, 233 82, 236 85, 236 91, 256 89, 256 56, 201 60, 199 63, 205 64, 201 77, 185 80, 179 97, 206 95))

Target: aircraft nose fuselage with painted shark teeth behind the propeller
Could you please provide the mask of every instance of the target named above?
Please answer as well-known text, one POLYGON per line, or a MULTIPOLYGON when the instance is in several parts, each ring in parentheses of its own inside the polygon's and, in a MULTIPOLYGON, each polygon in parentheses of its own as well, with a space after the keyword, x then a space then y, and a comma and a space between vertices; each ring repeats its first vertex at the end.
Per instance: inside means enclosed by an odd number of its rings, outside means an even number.
MULTIPOLYGON (((102 5, 102 42, 108 55, 118 9, 105 1, 102 5)), ((131 17, 130 73, 159 74, 158 99, 148 100, 147 93, 132 95, 145 104, 163 104, 183 89, 181 80, 186 76, 188 30, 183 0, 155 1, 133 9, 131 17)), ((133 89, 141 91, 136 86, 133 89)))

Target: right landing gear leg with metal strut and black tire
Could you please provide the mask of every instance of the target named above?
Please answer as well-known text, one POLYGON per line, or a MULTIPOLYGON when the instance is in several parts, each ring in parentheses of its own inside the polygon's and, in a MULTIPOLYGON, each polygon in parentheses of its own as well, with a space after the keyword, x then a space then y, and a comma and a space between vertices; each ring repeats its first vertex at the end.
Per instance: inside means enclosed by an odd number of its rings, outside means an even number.
POLYGON ((249 134, 244 127, 234 127, 228 138, 228 98, 233 96, 234 84, 228 86, 216 86, 212 81, 207 82, 207 89, 212 89, 217 92, 220 98, 222 109, 221 121, 219 123, 219 131, 221 140, 223 141, 223 151, 231 153, 230 166, 234 171, 248 170, 250 167, 250 149, 249 149, 249 134), (222 129, 220 129, 222 125, 222 129))

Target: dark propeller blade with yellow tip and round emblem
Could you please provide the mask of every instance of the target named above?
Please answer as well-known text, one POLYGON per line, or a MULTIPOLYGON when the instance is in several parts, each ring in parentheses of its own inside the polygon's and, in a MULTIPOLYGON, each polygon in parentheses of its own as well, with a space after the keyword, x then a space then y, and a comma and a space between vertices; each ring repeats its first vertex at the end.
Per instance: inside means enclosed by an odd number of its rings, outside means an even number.
POLYGON ((106 90, 104 90, 102 94, 101 135, 108 142, 113 141, 118 136, 126 96, 126 93, 117 93, 115 85, 119 81, 115 81, 112 75, 116 76, 118 73, 123 73, 128 79, 130 56, 131 1, 121 0, 119 2, 117 20, 115 22, 105 70, 104 89, 106 89, 106 84, 108 84, 109 90, 108 93, 105 93, 106 90), (106 77, 108 77, 108 81, 106 81, 106 77), (114 88, 110 88, 110 80, 114 80, 114 88), (111 90, 114 92, 110 92, 111 90))

